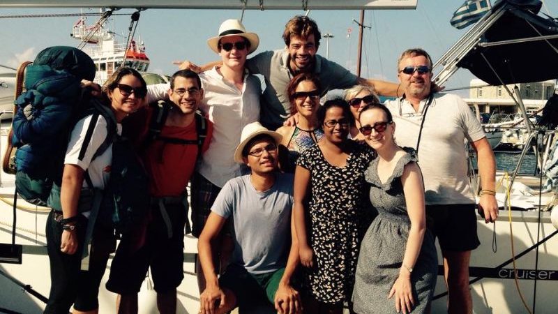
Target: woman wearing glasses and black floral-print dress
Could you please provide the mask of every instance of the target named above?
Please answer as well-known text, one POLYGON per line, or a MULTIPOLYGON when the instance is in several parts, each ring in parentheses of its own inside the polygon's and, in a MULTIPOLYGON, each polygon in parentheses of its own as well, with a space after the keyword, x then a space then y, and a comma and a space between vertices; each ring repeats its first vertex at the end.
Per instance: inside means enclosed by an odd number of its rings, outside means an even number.
POLYGON ((324 137, 296 161, 294 224, 306 267, 305 313, 342 313, 370 225, 364 170, 374 154, 347 139, 352 119, 345 100, 326 101, 317 112, 324 137))

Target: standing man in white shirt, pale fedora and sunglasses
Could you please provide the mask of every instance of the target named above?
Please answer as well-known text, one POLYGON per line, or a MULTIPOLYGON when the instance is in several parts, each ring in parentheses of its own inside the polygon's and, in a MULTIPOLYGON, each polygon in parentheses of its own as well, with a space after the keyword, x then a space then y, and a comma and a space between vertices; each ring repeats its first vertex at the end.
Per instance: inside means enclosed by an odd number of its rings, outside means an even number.
MULTIPOLYGON (((199 75, 205 91, 199 108, 209 114, 209 120, 213 122, 213 138, 190 181, 192 234, 195 237, 202 232, 211 205, 225 182, 243 172, 241 164, 233 159, 234 149, 240 141, 242 128, 259 120, 262 94, 259 79, 249 75, 244 68, 246 56, 259 45, 257 34, 247 32, 239 20, 226 20, 219 27, 218 36, 209 38, 207 44, 220 54, 223 64, 199 75)), ((148 86, 148 101, 167 98, 168 89, 168 84, 148 86)), ((229 237, 225 234, 218 240, 222 244, 216 249, 232 246, 227 239, 229 237)), ((231 249, 223 248, 223 251, 231 249)), ((201 269, 197 269, 197 274, 201 292, 205 285, 201 269)))

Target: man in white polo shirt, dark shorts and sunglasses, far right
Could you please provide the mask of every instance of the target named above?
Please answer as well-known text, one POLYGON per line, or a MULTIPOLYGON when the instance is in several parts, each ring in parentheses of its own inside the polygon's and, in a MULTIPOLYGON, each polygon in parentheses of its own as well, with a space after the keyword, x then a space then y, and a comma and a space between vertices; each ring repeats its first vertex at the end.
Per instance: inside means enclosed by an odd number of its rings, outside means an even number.
POLYGON ((495 157, 479 121, 467 103, 452 94, 432 91, 432 59, 410 49, 398 60, 402 97, 389 100, 398 145, 414 147, 425 183, 426 214, 444 257, 448 313, 472 313, 469 258, 480 242, 476 234, 475 198, 467 177, 465 140, 478 156, 482 190, 478 212, 485 222, 498 216, 495 157))

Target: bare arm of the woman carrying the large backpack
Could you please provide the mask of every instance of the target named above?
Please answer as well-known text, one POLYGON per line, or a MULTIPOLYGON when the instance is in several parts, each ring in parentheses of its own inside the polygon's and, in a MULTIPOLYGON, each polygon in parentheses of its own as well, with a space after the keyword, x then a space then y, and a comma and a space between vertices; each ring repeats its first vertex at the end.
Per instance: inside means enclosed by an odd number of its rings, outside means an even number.
MULTIPOLYGON (((63 218, 77 216, 77 202, 80 200, 80 193, 82 192, 83 174, 84 170, 78 165, 64 165, 60 190, 63 218)), ((69 255, 75 253, 77 250, 75 230, 63 230, 60 250, 69 255)))

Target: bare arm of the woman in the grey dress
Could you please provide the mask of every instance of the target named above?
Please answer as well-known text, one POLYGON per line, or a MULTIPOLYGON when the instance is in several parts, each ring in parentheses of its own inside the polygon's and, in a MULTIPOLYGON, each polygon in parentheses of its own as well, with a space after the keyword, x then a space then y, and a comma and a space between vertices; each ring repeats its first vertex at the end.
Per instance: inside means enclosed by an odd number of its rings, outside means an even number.
POLYGON ((401 176, 403 193, 405 194, 405 204, 407 214, 411 220, 409 238, 405 246, 402 267, 399 277, 393 284, 389 297, 395 295, 395 309, 403 313, 409 313, 414 304, 413 291, 411 284, 411 272, 409 269, 414 267, 418 254, 421 253, 424 233, 426 230, 426 214, 424 203, 424 186, 421 170, 416 163, 408 163, 401 176))

